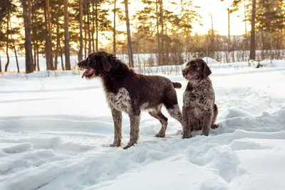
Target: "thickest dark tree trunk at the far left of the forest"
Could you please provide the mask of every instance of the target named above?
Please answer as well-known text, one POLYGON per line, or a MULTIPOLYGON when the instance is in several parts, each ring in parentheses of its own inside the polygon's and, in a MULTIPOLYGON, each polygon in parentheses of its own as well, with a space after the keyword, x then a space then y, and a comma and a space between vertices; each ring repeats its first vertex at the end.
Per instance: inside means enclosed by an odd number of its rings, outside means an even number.
POLYGON ((24 26, 25 26, 25 54, 26 73, 33 72, 33 54, 31 47, 31 0, 21 0, 23 4, 24 26), (28 3, 28 4, 27 4, 28 3))

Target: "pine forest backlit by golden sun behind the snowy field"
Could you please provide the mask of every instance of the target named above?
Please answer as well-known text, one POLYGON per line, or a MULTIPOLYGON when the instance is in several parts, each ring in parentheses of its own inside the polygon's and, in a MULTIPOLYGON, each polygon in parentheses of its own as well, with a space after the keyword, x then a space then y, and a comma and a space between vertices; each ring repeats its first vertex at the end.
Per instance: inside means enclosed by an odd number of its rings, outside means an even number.
MULTIPOLYGON (((219 4, 221 1, 212 0, 219 4)), ((231 14, 244 10, 244 34, 219 35, 214 25, 206 34, 193 33, 201 15, 192 0, 1 0, 0 55, 6 55, 0 73, 7 72, 11 52, 25 56, 26 73, 76 69, 78 61, 94 51, 128 55, 148 54, 144 65, 181 65, 190 58, 210 57, 221 63, 285 58, 285 1, 230 0, 231 14), (171 6, 167 6, 171 5, 171 6), (133 7, 140 9, 130 16, 133 7), (251 30, 247 29, 250 24, 251 30)), ((212 18, 210 14, 209 18, 212 18)), ((19 66, 18 66, 19 73, 19 66)))

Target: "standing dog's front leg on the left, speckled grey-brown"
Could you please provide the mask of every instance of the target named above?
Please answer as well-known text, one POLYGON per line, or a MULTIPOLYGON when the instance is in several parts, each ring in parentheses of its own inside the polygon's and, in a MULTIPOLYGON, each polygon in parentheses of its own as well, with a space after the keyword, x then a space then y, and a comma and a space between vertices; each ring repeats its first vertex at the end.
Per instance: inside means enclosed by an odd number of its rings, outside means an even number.
POLYGON ((115 108, 112 108, 111 112, 114 122, 114 142, 110 144, 110 147, 120 147, 122 142, 122 112, 115 108))

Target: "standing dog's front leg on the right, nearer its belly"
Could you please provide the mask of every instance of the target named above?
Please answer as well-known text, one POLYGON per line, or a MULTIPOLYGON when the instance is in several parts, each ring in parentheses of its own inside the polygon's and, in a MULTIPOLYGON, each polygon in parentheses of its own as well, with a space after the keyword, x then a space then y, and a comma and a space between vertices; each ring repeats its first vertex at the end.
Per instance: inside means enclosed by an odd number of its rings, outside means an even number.
POLYGON ((136 110, 135 112, 129 114, 130 117, 130 141, 128 145, 124 147, 124 149, 128 149, 132 147, 134 144, 138 143, 138 139, 140 137, 140 110, 136 110))

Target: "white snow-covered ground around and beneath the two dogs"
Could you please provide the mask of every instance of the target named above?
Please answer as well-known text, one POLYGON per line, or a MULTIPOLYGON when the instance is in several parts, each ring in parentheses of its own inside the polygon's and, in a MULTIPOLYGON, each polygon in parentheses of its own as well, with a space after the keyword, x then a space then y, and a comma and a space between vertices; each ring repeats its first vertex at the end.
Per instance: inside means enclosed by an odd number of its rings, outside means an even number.
MULTIPOLYGON (((108 147, 113 120, 100 80, 79 71, 0 75, 0 189, 283 190, 285 61, 209 65, 221 126, 181 139, 162 110, 167 135, 156 138, 160 122, 142 112, 140 142, 127 150, 108 147)), ((166 76, 182 83, 182 108, 186 81, 166 76)), ((124 145, 129 131, 123 115, 124 145)))

